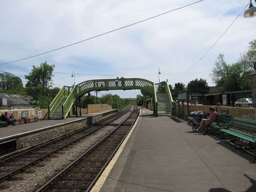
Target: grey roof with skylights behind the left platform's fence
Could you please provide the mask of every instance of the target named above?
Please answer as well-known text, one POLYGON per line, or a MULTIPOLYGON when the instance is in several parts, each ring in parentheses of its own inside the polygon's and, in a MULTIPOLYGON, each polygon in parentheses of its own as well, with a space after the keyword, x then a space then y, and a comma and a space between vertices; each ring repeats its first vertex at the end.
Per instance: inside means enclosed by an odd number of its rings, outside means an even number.
POLYGON ((30 105, 30 96, 22 96, 19 94, 7 94, 7 93, 0 93, 0 98, 7 98, 7 105, 30 105))

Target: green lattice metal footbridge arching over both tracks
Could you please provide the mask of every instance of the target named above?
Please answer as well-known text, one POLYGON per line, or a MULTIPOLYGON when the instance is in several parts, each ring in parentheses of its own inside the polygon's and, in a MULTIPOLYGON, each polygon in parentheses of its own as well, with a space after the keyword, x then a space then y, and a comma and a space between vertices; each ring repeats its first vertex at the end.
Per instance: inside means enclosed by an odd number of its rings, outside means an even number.
MULTIPOLYGON (((166 83, 167 84, 167 83, 166 83)), ((159 84, 160 85, 160 84, 159 84)), ((61 110, 62 118, 66 118, 70 108, 74 102, 80 100, 80 98, 91 91, 102 90, 132 90, 140 89, 145 90, 152 94, 154 97, 154 114, 157 108, 156 94, 163 86, 155 85, 154 82, 141 78, 120 78, 120 79, 102 79, 102 80, 88 80, 80 84, 77 84, 73 89, 69 86, 63 86, 52 103, 49 105, 49 119, 56 110, 61 110), (157 91, 156 91, 157 90, 157 91), (65 98, 65 99, 64 99, 65 98)), ((168 87, 168 86, 167 86, 168 87)), ((167 92, 170 94, 169 87, 167 92)))

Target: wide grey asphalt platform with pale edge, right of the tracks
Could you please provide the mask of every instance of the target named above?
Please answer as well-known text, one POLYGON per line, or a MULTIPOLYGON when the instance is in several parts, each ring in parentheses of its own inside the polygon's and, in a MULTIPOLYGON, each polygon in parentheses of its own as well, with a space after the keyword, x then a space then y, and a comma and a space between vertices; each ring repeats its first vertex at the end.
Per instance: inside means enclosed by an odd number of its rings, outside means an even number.
POLYGON ((255 157, 142 109, 92 192, 256 192, 255 157))

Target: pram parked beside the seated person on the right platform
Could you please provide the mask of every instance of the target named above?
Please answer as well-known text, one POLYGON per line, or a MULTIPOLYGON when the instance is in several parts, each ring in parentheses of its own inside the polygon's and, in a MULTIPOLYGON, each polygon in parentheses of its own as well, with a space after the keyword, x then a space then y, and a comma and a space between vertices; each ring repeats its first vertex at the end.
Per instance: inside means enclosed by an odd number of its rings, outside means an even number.
MULTIPOLYGON (((202 111, 194 111, 190 112, 190 116, 188 117, 189 123, 192 122, 192 130, 196 132, 196 130, 199 128, 200 122, 203 118, 206 118, 206 114, 204 114, 202 111)), ((201 128, 203 133, 208 132, 207 126, 202 126, 201 128)))

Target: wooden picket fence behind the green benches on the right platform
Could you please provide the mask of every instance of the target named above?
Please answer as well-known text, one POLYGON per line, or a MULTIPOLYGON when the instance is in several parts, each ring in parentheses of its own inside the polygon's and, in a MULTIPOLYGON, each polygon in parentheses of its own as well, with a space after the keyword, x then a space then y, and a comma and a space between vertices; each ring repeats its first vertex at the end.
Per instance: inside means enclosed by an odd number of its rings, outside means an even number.
MULTIPOLYGON (((249 107, 230 107, 230 106, 210 106, 210 105, 190 105, 189 110, 195 110, 209 113, 209 108, 214 107, 218 113, 230 114, 232 117, 239 117, 245 119, 256 120, 255 108, 249 107)), ((180 109, 182 108, 180 104, 180 109)), ((184 105, 184 114, 190 114, 187 112, 186 105, 184 105)))

